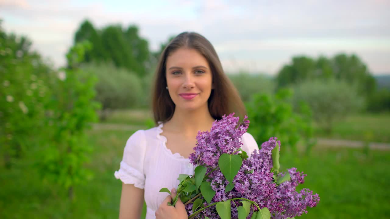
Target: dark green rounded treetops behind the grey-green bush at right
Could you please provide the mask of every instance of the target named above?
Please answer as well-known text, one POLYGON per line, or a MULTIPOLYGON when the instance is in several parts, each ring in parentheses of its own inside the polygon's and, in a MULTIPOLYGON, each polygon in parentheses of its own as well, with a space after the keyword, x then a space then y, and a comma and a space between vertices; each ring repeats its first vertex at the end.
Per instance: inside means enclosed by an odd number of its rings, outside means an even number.
POLYGON ((356 85, 358 93, 364 97, 369 97, 376 89, 376 81, 367 66, 356 55, 346 54, 332 58, 321 56, 317 60, 305 56, 293 57, 292 63, 284 65, 278 72, 277 87, 329 78, 356 85))

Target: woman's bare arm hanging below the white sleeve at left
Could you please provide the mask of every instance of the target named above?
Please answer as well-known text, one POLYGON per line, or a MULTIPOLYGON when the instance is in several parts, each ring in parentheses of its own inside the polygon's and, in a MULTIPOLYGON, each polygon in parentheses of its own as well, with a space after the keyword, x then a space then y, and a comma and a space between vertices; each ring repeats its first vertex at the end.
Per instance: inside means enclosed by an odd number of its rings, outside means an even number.
POLYGON ((122 183, 121 205, 119 219, 140 219, 144 206, 144 189, 134 184, 122 183))

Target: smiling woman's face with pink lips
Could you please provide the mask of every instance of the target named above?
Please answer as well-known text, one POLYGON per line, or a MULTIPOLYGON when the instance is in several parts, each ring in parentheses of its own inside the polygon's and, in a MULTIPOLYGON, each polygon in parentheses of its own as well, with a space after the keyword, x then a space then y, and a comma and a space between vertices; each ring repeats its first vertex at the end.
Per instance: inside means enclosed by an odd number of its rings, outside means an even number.
POLYGON ((176 108, 207 107, 213 78, 206 58, 197 50, 183 47, 172 52, 165 70, 168 92, 176 108))

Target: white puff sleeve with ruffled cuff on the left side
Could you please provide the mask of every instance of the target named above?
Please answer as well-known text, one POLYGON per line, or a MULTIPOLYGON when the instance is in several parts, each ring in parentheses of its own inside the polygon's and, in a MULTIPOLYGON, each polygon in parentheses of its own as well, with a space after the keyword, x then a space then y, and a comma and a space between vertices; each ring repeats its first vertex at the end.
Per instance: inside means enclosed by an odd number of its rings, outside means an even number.
POLYGON ((138 130, 130 136, 123 151, 121 166, 115 171, 115 178, 121 179, 124 184, 134 184, 135 187, 144 189, 144 159, 146 141, 144 130, 138 130))

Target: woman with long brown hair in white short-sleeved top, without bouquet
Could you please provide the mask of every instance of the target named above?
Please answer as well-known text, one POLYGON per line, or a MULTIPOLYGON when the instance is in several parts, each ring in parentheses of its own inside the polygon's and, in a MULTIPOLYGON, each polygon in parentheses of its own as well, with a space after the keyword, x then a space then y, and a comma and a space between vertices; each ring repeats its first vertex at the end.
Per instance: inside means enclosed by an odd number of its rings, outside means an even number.
MULTIPOLYGON (((176 207, 168 206, 171 197, 159 193, 160 189, 176 188, 180 173, 194 173, 188 157, 198 131, 210 130, 224 114, 245 115, 243 102, 223 72, 215 49, 193 32, 177 35, 161 54, 152 107, 158 126, 130 136, 121 167, 115 172, 123 182, 120 219, 140 218, 144 200, 146 219, 187 218, 181 201, 176 207)), ((241 140, 248 154, 258 148, 249 133, 241 140)))

